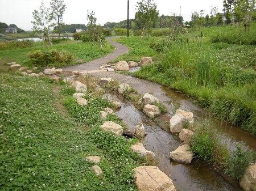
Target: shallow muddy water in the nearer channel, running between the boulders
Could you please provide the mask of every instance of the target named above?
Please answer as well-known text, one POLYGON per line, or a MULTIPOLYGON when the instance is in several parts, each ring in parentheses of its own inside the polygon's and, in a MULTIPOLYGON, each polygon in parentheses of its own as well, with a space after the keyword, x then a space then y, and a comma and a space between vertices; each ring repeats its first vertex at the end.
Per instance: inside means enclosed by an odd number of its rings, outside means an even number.
POLYGON ((161 129, 154 122, 148 121, 148 118, 128 101, 113 95, 109 96, 109 99, 115 99, 122 103, 117 114, 127 124, 130 131, 135 130, 138 122, 143 122, 147 134, 142 140, 143 145, 147 150, 156 154, 159 168, 172 179, 177 190, 240 190, 234 188, 207 165, 199 161, 193 160, 192 164, 171 162, 170 152, 179 147, 180 140, 161 129))

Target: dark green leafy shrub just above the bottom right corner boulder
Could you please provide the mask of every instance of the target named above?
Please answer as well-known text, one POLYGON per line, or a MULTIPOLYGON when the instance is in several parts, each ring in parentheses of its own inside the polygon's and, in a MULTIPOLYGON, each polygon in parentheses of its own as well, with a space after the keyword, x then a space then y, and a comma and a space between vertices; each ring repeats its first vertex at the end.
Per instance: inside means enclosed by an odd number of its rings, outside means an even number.
POLYGON ((232 151, 227 160, 225 173, 238 181, 245 174, 250 163, 255 162, 255 156, 255 152, 249 150, 244 144, 238 143, 237 150, 232 151))

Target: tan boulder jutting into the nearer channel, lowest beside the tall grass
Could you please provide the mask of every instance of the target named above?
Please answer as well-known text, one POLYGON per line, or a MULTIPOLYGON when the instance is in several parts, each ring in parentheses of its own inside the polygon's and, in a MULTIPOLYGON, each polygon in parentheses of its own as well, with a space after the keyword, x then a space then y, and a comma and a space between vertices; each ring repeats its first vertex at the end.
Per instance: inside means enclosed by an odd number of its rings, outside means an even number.
POLYGON ((190 164, 193 159, 193 152, 188 144, 181 145, 175 151, 170 152, 170 158, 176 162, 190 164))

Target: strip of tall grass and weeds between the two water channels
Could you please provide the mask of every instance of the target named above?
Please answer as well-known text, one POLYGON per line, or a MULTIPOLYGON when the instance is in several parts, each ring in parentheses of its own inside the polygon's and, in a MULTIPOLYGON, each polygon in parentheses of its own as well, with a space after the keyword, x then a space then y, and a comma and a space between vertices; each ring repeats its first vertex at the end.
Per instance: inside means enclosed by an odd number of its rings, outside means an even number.
POLYGON ((254 163, 256 152, 245 147, 243 143, 235 143, 226 139, 213 122, 207 120, 193 126, 191 150, 193 156, 213 164, 219 171, 224 171, 235 180, 239 180, 250 163, 254 163), (235 147, 234 150, 231 147, 235 147))

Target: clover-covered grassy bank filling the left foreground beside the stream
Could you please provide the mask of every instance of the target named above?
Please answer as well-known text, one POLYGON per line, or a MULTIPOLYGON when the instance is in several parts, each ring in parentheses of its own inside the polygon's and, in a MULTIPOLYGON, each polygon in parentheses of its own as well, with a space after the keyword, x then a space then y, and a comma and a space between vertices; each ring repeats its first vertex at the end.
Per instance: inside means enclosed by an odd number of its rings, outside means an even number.
POLYGON ((1 189, 137 190, 131 169, 141 160, 129 150, 135 140, 99 128, 107 100, 88 95, 82 108, 72 88, 48 79, 0 73, 0 81, 1 189), (88 155, 101 156, 102 179, 88 155))

